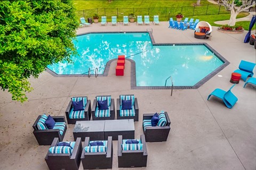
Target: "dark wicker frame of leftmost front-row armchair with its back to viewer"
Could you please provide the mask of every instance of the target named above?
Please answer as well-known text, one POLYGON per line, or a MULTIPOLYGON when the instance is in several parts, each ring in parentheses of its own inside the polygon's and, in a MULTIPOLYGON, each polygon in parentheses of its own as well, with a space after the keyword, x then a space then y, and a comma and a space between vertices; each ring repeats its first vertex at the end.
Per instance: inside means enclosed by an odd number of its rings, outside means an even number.
MULTIPOLYGON (((59 139, 57 137, 54 138, 51 147, 57 146, 58 143, 59 139)), ((45 157, 46 164, 50 170, 78 170, 81 162, 82 149, 81 137, 77 137, 75 147, 73 148, 71 155, 69 153, 50 153, 50 151, 48 151, 45 157)))

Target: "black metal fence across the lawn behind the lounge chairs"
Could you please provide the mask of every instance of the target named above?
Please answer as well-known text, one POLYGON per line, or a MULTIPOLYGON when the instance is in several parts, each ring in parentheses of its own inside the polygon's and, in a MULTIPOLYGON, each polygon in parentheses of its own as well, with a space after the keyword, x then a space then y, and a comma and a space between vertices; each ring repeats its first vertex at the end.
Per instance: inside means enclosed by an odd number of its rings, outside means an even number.
POLYGON ((202 6, 181 6, 181 7, 149 7, 149 8, 97 8, 90 10, 76 11, 79 17, 92 18, 94 13, 99 16, 117 16, 123 18, 125 15, 134 13, 135 15, 159 15, 159 18, 175 17, 179 12, 185 17, 192 17, 194 15, 218 15, 229 13, 225 7, 217 4, 208 4, 202 6))

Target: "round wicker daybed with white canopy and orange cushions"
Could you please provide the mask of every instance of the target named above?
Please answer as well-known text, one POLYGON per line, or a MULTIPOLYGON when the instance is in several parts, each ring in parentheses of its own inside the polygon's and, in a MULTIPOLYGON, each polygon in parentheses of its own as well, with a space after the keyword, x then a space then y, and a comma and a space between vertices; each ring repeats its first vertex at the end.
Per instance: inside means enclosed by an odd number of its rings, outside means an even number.
POLYGON ((210 23, 205 21, 200 21, 196 25, 194 37, 197 39, 208 39, 209 37, 207 35, 211 35, 211 33, 212 33, 212 26, 210 25, 210 23), (197 32, 197 29, 199 29, 199 32, 197 32), (204 31, 202 32, 202 30, 204 31), (207 34, 206 34, 206 31, 207 31, 207 34))

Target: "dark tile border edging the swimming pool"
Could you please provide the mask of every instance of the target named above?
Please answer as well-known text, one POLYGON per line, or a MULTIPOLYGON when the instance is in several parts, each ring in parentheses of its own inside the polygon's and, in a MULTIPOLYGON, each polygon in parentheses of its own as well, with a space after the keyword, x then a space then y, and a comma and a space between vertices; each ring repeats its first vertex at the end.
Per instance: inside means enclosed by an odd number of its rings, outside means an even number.
MULTIPOLYGON (((154 37, 151 32, 148 31, 111 31, 111 32, 87 32, 84 34, 78 34, 77 36, 82 36, 86 34, 111 34, 111 33, 148 33, 152 42, 153 46, 172 46, 172 45, 204 45, 207 47, 211 52, 213 52, 222 62, 223 64, 212 71, 209 75, 204 77, 202 80, 200 80, 197 84, 194 86, 173 86, 173 89, 197 89, 200 86, 202 86, 204 83, 206 83, 208 80, 210 80, 213 76, 217 75, 222 69, 228 66, 230 63, 228 60, 226 60, 221 54, 219 54, 217 51, 215 51, 210 45, 207 43, 155 43, 154 37)), ((105 70, 103 74, 99 74, 98 76, 108 76, 109 68, 111 62, 115 61, 117 59, 109 60, 106 64, 105 70)), ((126 58, 126 60, 131 62, 131 90, 170 90, 171 86, 136 86, 136 69, 135 69, 135 61, 126 58)), ((58 75, 54 71, 46 68, 46 71, 49 72, 52 76, 55 77, 88 77, 88 75, 82 74, 82 75, 58 75)), ((95 76, 95 74, 92 74, 91 76, 95 76)))

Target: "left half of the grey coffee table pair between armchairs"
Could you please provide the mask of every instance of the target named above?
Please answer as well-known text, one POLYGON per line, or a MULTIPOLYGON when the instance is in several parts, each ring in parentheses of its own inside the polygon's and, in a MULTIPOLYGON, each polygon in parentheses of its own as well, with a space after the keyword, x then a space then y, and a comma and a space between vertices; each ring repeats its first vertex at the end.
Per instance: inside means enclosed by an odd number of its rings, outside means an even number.
POLYGON ((74 139, 81 137, 82 141, 85 137, 90 137, 91 141, 105 140, 104 137, 105 120, 89 120, 89 121, 76 121, 73 130, 74 139))

